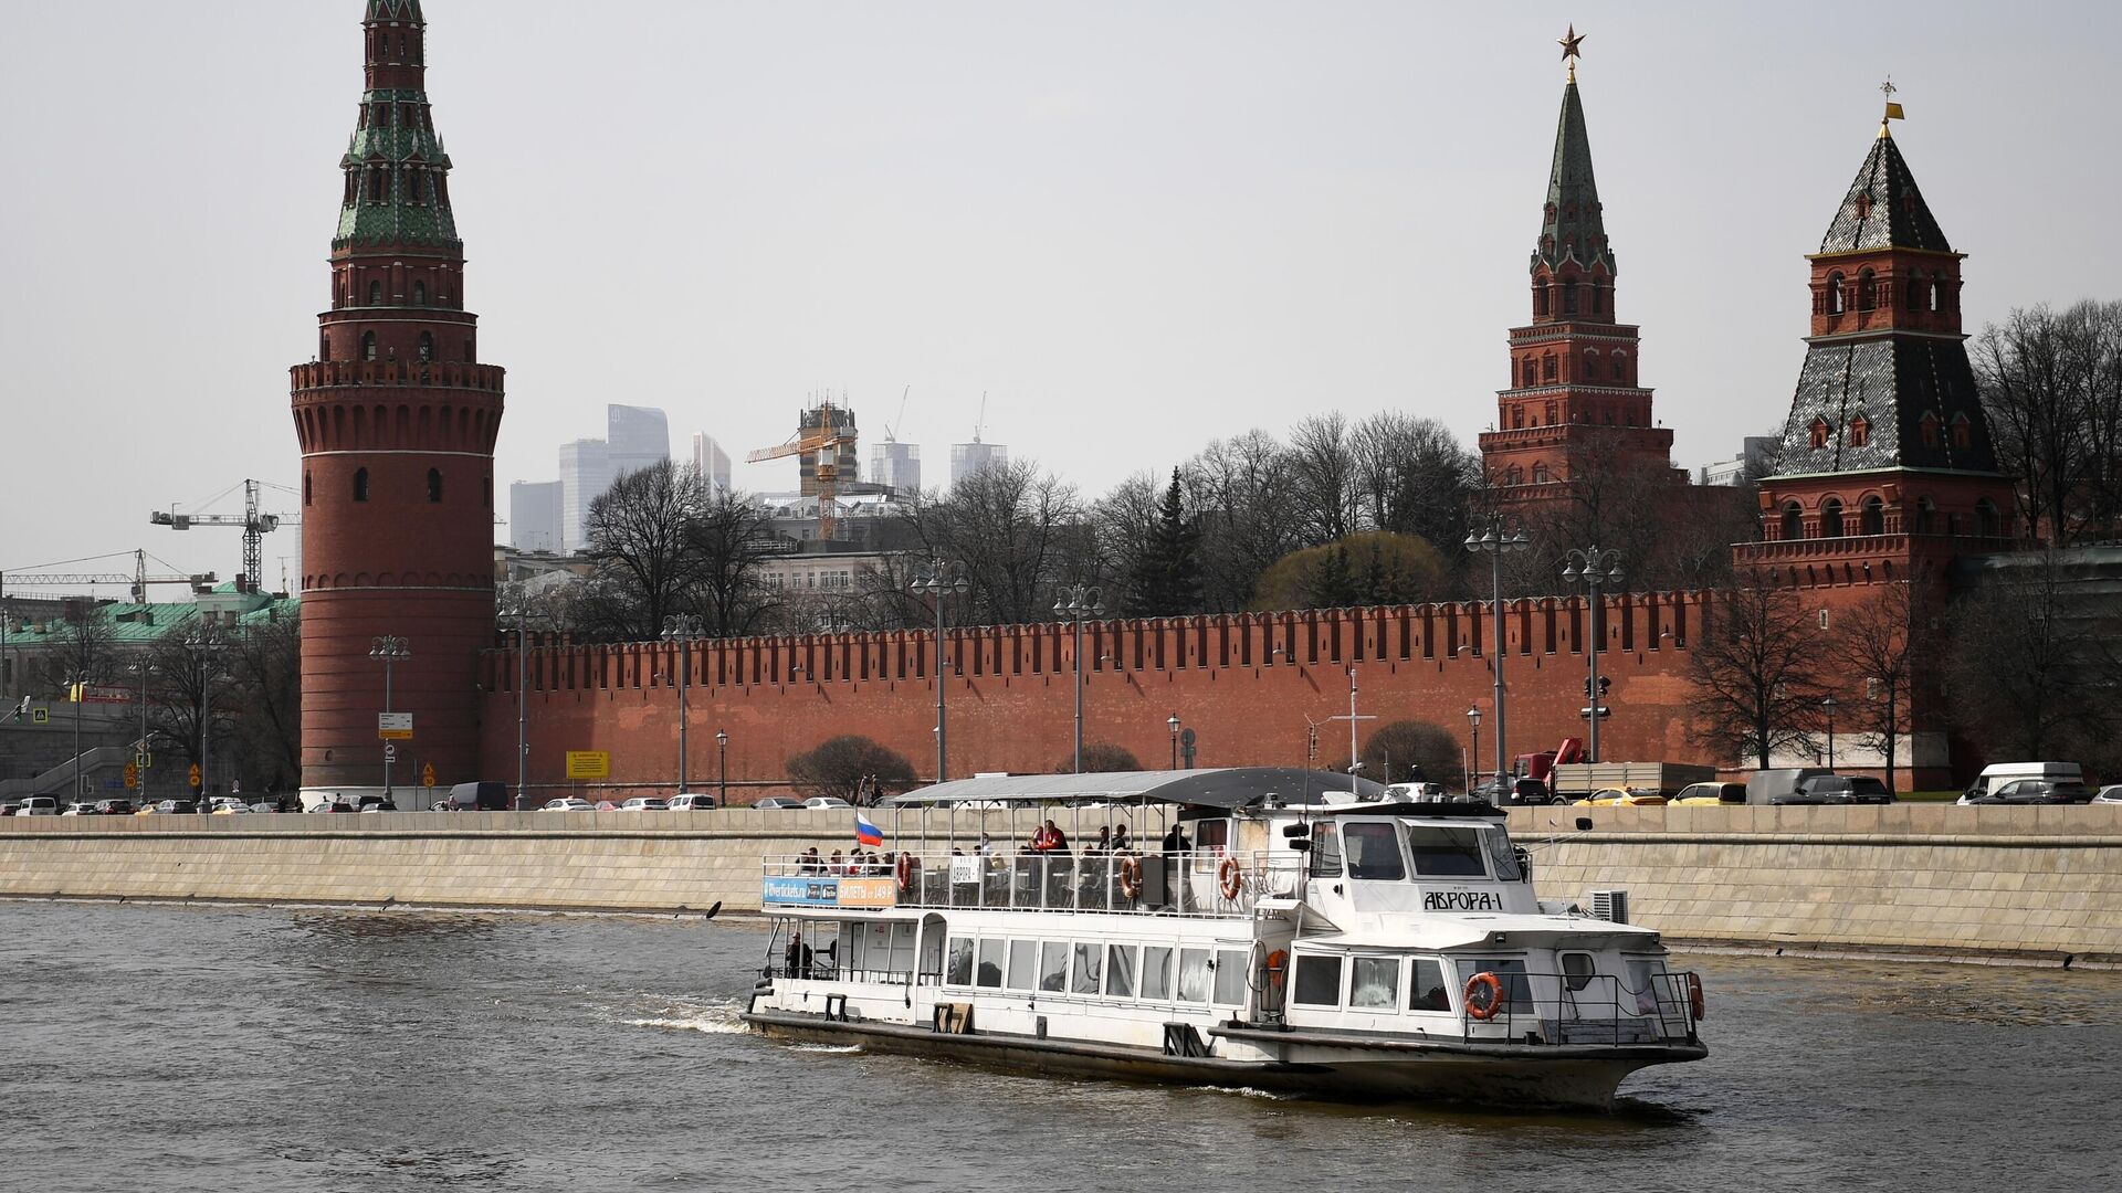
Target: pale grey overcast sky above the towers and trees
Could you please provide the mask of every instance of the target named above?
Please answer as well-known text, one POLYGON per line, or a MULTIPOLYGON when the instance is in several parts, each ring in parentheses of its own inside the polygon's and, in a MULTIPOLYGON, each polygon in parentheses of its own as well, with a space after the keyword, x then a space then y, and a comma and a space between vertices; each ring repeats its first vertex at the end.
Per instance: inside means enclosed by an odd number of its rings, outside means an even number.
MULTIPOLYGON (((361 8, 6 2, 0 567, 144 546, 227 577, 236 531, 176 535, 149 509, 297 482, 286 367, 329 301, 361 8)), ((1619 314, 1679 463, 1780 425, 1804 255, 1886 74, 1901 151, 1971 255, 1971 329, 2122 297, 2116 4, 427 17, 465 297, 509 369, 503 492, 603 435, 607 401, 664 408, 683 454, 692 431, 779 444, 821 388, 847 391, 868 465, 912 386, 898 433, 932 482, 985 391, 985 439, 1086 497, 1311 410, 1426 414, 1473 446, 1528 318, 1570 21, 1619 314)), ((736 467, 794 486, 789 461, 736 467)), ((267 582, 297 550, 267 541, 267 582)))

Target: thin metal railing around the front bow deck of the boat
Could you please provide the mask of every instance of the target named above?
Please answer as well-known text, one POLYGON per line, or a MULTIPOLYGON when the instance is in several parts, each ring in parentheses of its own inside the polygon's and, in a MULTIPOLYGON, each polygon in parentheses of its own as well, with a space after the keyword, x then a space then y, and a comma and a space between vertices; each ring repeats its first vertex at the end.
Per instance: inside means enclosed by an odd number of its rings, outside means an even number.
POLYGON ((1460 1010, 1466 1040, 1528 1044, 1651 1044, 1695 1038, 1691 972, 1651 974, 1630 987, 1619 974, 1496 972, 1502 998, 1490 1019, 1460 1010), (1558 996, 1547 1002, 1549 993, 1558 996))

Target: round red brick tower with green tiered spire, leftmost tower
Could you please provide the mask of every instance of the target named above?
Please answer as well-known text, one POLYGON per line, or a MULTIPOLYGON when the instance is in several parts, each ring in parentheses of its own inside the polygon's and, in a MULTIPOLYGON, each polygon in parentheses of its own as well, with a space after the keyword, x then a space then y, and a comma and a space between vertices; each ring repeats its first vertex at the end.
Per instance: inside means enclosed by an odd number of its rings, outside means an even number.
POLYGON ((501 369, 477 363, 450 157, 429 115, 420 0, 367 0, 367 87, 340 170, 331 310, 295 365, 301 442, 301 781, 380 788, 384 664, 405 639, 393 709, 414 713, 395 788, 422 764, 475 779, 477 652, 494 633, 494 435, 501 369))

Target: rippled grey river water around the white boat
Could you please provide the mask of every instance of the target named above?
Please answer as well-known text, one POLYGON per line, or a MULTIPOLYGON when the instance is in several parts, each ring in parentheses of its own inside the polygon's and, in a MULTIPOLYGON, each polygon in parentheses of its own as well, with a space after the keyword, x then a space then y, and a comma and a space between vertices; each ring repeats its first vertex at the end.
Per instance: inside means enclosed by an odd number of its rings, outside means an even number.
POLYGON ((1689 957, 1613 1117, 766 1042, 755 923, 0 902, 0 1189, 2122 1187, 2122 974, 1689 957))

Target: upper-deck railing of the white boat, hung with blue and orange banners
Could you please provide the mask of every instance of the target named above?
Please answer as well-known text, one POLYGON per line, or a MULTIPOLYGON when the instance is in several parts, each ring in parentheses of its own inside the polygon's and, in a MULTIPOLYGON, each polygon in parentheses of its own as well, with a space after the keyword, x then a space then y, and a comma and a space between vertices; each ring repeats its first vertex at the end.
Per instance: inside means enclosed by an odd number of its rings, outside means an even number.
POLYGON ((881 862, 766 858, 766 906, 934 906, 1250 917, 1292 898, 1301 853, 895 853, 881 862))

